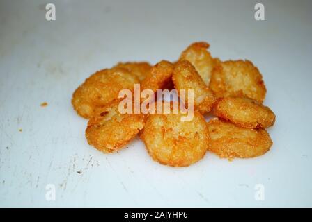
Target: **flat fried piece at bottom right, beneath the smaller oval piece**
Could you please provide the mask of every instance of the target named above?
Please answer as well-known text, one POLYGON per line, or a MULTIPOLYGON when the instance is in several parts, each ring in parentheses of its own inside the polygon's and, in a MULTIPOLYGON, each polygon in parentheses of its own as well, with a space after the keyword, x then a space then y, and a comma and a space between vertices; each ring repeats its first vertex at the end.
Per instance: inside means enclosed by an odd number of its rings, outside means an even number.
POLYGON ((273 142, 263 129, 247 129, 217 118, 208 122, 208 150, 221 158, 258 157, 270 150, 273 142))

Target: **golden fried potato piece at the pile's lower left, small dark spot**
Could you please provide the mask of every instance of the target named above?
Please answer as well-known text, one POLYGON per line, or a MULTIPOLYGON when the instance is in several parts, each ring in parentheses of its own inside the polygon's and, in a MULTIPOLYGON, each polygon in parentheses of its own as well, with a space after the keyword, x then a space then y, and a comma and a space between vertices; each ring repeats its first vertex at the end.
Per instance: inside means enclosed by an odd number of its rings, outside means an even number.
POLYGON ((88 121, 86 139, 88 144, 104 153, 123 148, 144 126, 143 114, 121 114, 118 103, 101 111, 99 116, 88 121))

